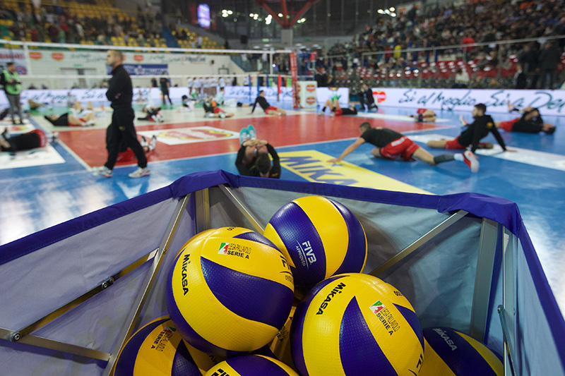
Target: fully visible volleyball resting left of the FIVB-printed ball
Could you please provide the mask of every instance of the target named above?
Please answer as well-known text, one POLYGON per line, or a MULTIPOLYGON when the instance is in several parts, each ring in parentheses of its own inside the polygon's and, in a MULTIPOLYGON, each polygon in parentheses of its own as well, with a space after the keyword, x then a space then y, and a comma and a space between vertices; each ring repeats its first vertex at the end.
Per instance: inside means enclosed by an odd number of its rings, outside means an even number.
POLYGON ((207 231, 186 243, 169 272, 165 298, 189 344, 236 356, 268 344, 290 313, 294 294, 285 256, 241 227, 207 231))

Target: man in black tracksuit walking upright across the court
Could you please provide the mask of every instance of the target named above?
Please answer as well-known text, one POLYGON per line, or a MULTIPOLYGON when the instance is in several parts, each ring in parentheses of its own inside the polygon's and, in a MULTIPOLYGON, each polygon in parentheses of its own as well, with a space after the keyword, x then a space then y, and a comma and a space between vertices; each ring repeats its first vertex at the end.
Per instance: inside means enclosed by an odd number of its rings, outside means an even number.
POLYGON ((141 178, 141 176, 148 176, 150 171, 147 168, 147 158, 143 152, 143 147, 137 139, 136 128, 133 126, 133 119, 135 119, 135 113, 133 107, 131 107, 133 89, 131 78, 122 65, 122 61, 123 56, 120 51, 108 51, 106 62, 108 66, 112 67, 112 78, 109 81, 106 97, 112 102, 111 107, 114 112, 112 113, 112 123, 107 130, 108 159, 104 166, 95 167, 93 171, 107 178, 112 177, 112 169, 116 164, 118 154, 125 145, 136 154, 138 163, 138 169, 129 174, 129 177, 141 178))

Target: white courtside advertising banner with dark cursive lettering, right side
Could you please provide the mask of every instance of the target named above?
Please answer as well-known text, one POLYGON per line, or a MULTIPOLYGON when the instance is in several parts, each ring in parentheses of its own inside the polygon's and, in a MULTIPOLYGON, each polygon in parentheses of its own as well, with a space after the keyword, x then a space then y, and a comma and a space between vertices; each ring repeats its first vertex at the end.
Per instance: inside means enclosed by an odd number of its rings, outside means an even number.
POLYGON ((565 90, 389 89, 374 87, 379 106, 472 111, 478 103, 490 114, 506 114, 508 102, 523 109, 537 107, 542 115, 565 115, 565 90))

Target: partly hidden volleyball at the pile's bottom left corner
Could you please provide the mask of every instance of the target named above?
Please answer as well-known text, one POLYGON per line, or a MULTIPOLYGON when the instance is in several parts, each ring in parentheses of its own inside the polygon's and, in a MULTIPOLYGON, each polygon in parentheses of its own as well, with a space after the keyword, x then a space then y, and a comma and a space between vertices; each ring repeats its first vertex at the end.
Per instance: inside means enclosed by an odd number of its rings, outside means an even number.
POLYGON ((149 322, 119 353, 114 376, 201 376, 218 363, 186 344, 169 317, 149 322))

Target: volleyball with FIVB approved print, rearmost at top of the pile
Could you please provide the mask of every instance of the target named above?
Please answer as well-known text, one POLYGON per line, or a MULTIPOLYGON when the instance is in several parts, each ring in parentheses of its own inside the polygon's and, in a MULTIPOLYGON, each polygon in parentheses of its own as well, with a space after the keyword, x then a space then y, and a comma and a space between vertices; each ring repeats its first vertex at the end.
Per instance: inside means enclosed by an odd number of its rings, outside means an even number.
POLYGON ((347 207, 321 196, 281 207, 263 232, 290 262, 297 286, 311 287, 335 274, 362 272, 367 237, 347 207))

